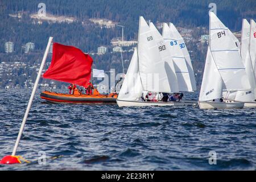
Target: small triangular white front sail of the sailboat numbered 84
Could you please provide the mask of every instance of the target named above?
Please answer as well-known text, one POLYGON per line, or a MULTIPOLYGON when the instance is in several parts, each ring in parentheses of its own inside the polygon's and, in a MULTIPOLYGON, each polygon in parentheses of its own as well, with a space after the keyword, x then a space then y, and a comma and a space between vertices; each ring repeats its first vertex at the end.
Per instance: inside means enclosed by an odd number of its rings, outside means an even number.
POLYGON ((222 78, 208 47, 199 101, 211 101, 222 97, 222 78))

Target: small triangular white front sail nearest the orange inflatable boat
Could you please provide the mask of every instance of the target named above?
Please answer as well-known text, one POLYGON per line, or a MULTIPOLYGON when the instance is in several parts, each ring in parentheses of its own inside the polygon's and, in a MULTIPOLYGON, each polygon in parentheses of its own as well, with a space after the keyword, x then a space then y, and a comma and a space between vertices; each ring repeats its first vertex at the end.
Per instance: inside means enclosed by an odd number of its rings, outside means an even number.
POLYGON ((118 100, 134 101, 142 96, 142 85, 138 72, 138 53, 135 48, 118 100))

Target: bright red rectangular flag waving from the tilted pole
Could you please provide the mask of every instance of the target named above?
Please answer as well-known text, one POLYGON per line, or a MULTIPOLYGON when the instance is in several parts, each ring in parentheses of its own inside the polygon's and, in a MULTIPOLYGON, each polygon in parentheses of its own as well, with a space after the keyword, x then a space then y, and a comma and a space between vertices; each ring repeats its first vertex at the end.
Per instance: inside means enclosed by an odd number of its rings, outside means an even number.
POLYGON ((43 78, 87 87, 92 57, 73 46, 53 43, 52 61, 43 78))

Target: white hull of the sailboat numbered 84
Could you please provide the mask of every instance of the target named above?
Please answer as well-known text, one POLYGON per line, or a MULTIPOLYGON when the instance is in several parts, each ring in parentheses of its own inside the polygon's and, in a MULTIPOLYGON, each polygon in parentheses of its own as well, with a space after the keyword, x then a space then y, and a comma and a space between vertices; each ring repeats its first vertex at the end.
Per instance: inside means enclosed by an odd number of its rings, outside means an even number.
POLYGON ((242 109, 243 102, 210 102, 199 101, 200 109, 242 109))

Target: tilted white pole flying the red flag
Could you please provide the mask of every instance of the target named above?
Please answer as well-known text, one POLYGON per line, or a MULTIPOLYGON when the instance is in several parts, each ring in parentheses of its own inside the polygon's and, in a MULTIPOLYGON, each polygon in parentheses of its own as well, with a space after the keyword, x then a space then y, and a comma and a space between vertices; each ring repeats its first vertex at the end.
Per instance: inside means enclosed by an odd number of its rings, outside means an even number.
POLYGON ((49 48, 51 47, 52 39, 53 39, 53 37, 50 36, 49 40, 48 40, 47 47, 46 47, 46 52, 44 52, 44 57, 43 57, 42 63, 40 65, 40 68, 39 68, 39 71, 38 71, 38 76, 36 77, 34 88, 32 90, 31 96, 30 96, 30 101, 28 101, 27 110, 26 110, 26 112, 24 114, 22 125, 20 126, 20 129, 19 129, 19 134, 18 134, 18 137, 17 137, 16 142, 15 142, 15 146, 14 146, 14 149, 13 149, 13 154, 11 154, 13 156, 15 156, 15 154, 16 154, 16 151, 17 151, 17 148, 18 148, 18 145, 19 145, 19 141, 20 141, 20 137, 22 135, 24 126, 26 124, 27 116, 28 116, 28 113, 30 111, 30 107, 32 105, 33 98, 35 96, 36 88, 38 87, 38 82, 40 80, 40 77, 41 77, 41 74, 42 74, 42 71, 43 71, 43 68, 44 68, 44 63, 46 63, 46 58, 47 58, 47 54, 49 52, 49 48))

